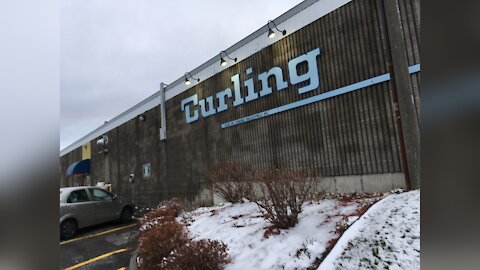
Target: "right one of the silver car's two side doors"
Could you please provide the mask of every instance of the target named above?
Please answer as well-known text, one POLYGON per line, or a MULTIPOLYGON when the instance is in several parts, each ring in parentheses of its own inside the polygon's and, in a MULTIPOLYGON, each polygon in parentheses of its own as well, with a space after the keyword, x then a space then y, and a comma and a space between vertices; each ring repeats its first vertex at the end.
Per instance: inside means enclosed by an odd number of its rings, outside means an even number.
POLYGON ((111 193, 101 188, 90 188, 89 191, 92 199, 97 205, 95 213, 99 223, 111 221, 120 216, 117 209, 117 203, 113 199, 113 195, 111 193))

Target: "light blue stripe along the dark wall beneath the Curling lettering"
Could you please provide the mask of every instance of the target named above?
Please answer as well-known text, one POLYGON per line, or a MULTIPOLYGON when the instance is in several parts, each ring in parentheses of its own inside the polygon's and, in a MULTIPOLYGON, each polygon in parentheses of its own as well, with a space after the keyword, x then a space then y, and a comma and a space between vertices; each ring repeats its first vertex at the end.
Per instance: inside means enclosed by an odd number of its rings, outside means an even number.
MULTIPOLYGON (((419 72, 420 71, 420 64, 408 67, 408 71, 409 71, 409 73, 419 72)), ((362 89, 362 88, 365 88, 365 87, 368 87, 368 86, 372 86, 372 85, 375 85, 375 84, 378 84, 378 83, 386 82, 386 81, 389 81, 389 80, 390 80, 390 73, 386 73, 386 74, 383 74, 383 75, 380 75, 380 76, 377 76, 377 77, 373 77, 373 78, 370 78, 370 79, 367 79, 367 80, 364 80, 364 81, 361 81, 361 82, 357 82, 357 83, 347 85, 347 86, 344 86, 344 87, 341 87, 341 88, 338 88, 338 89, 335 89, 335 90, 332 90, 332 91, 328 91, 328 92, 325 92, 325 93, 322 93, 322 94, 319 94, 319 95, 316 95, 316 96, 313 96, 313 97, 309 97, 309 98, 302 99, 302 100, 299 100, 299 101, 295 101, 295 102, 292 102, 292 103, 289 103, 289 104, 286 104, 286 105, 283 105, 283 106, 280 106, 280 107, 276 107, 276 108, 273 108, 273 109, 270 109, 270 110, 267 110, 267 111, 252 114, 252 115, 249 115, 249 116, 246 116, 246 117, 243 117, 243 118, 239 118, 239 119, 236 119, 236 120, 232 120, 232 121, 223 123, 221 125, 221 127, 222 128, 233 127, 233 126, 236 126, 236 125, 239 125, 239 124, 247 123, 247 122, 250 122, 250 121, 253 121, 253 120, 256 120, 256 119, 260 119, 260 118, 263 118, 263 117, 266 117, 266 116, 269 116, 269 115, 273 115, 273 114, 276 114, 276 113, 281 113, 281 112, 288 111, 288 110, 291 110, 291 109, 295 109, 295 108, 298 108, 298 107, 301 107, 301 106, 312 104, 312 103, 315 103, 315 102, 318 102, 318 101, 321 101, 321 100, 325 100, 325 99, 332 98, 332 97, 335 97, 335 96, 343 95, 343 94, 346 94, 346 93, 349 93, 349 92, 353 92, 353 91, 356 91, 356 90, 359 90, 359 89, 362 89)))

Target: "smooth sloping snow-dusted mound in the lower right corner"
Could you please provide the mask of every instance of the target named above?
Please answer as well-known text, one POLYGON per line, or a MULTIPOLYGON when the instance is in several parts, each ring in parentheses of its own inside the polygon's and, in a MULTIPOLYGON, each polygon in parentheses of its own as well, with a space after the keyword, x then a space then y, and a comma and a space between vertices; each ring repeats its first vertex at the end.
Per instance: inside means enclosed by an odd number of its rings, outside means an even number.
POLYGON ((420 192, 393 194, 373 205, 318 269, 420 269, 420 192))

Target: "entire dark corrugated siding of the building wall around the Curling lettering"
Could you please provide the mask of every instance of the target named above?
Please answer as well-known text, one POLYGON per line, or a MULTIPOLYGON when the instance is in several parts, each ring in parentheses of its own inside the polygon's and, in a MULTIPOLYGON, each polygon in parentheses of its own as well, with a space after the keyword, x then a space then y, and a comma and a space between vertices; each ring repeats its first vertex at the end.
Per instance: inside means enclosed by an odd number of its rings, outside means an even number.
MULTIPOLYGON (((418 64, 419 1, 401 0, 400 6, 409 63, 418 64)), ((136 203, 152 205, 173 196, 193 198, 201 187, 208 186, 208 171, 227 160, 258 168, 296 166, 322 176, 401 172, 391 82, 237 126, 225 129, 220 126, 388 73, 390 56, 386 53, 388 38, 382 16, 381 1, 352 1, 168 100, 165 141, 159 140, 158 107, 146 112, 145 122, 135 118, 108 132, 111 140, 108 154, 98 154, 92 141, 94 182, 108 177, 114 190, 134 198, 136 203), (233 88, 230 77, 237 73, 246 96, 243 82, 249 78, 245 75, 248 67, 253 68, 258 92, 261 88, 258 74, 279 66, 288 80, 288 61, 317 47, 321 49, 317 58, 320 74, 317 90, 299 95, 297 90, 304 83, 289 84, 288 88, 276 91, 275 81, 270 78, 271 95, 238 107, 228 100, 227 111, 200 117, 190 124, 185 122, 180 107, 182 99, 195 93, 202 99, 227 87, 233 88), (143 179, 142 164, 147 162, 152 164, 152 177, 143 179), (134 184, 128 183, 130 173, 135 173, 134 184)), ((299 67, 300 72, 306 70, 306 64, 299 67)), ((419 74, 412 78, 418 98, 419 74)), ((62 157, 62 171, 73 161, 71 154, 62 157)), ((67 180, 62 181, 67 183, 67 180)))

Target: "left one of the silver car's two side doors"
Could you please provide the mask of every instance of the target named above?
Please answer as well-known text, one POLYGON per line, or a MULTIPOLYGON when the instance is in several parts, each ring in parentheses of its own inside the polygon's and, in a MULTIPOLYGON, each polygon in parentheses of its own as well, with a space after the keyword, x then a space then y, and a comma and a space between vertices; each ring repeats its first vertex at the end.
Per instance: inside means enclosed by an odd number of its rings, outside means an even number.
POLYGON ((78 227, 94 225, 96 223, 95 202, 90 200, 86 189, 70 192, 67 198, 68 212, 78 221, 78 227))

